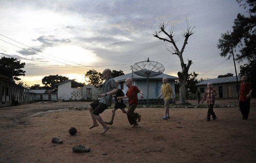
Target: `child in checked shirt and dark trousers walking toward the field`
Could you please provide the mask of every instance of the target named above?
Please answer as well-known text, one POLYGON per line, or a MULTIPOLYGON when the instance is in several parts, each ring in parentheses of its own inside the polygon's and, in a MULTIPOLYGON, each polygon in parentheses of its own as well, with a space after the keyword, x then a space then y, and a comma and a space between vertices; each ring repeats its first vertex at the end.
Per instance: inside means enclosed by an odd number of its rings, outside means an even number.
POLYGON ((215 103, 215 96, 217 95, 217 93, 211 83, 208 83, 207 87, 208 89, 205 91, 204 97, 202 99, 202 103, 204 102, 204 100, 207 100, 207 104, 208 104, 206 121, 210 121, 210 115, 212 116, 212 120, 216 120, 217 117, 214 113, 214 103, 215 103))

